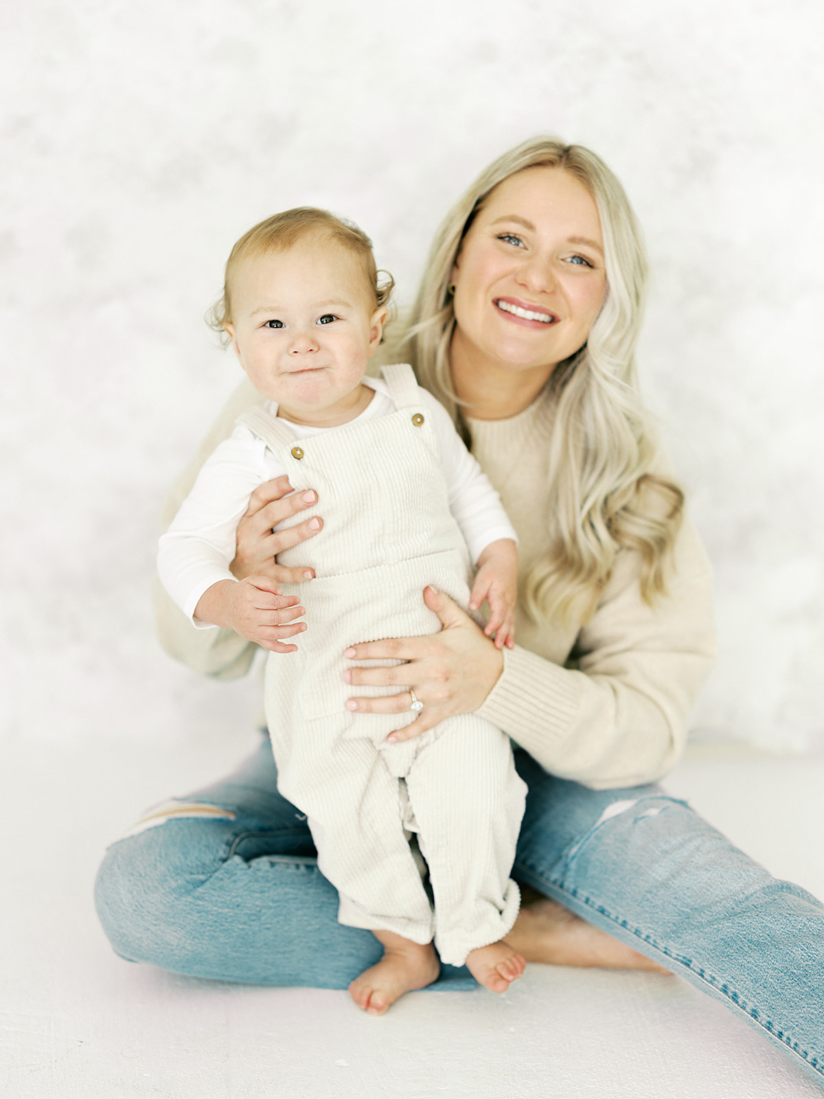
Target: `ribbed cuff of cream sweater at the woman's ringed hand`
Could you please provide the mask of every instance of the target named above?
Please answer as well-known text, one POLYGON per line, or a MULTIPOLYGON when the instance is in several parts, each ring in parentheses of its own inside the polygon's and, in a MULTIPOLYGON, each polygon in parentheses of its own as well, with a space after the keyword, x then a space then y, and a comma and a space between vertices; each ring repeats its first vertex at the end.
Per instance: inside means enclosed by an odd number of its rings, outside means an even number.
POLYGON ((503 651, 503 673, 478 714, 542 762, 569 733, 579 708, 574 671, 520 645, 503 651))

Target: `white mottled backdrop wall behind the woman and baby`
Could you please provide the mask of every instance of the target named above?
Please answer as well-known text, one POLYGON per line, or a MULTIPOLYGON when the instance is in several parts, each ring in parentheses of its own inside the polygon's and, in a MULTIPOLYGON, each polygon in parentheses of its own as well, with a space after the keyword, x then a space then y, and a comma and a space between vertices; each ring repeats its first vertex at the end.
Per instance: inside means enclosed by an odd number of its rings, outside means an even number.
POLYGON ((4 735, 240 734, 254 684, 168 660, 148 600, 238 378, 202 323, 231 244, 329 206, 409 301, 455 196, 554 132, 646 231, 642 368, 717 573, 695 728, 821 750, 823 41, 819 0, 3 5, 4 735))

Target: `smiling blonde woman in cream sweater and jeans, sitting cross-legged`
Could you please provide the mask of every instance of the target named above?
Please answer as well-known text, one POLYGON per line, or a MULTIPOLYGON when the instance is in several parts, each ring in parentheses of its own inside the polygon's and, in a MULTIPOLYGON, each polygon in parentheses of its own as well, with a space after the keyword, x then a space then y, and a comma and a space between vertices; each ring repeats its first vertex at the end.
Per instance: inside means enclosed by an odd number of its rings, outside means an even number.
MULTIPOLYGON (((513 874, 534 902, 508 941, 527 959, 676 972, 822 1081, 824 908, 647 785, 682 748, 713 630, 710 568, 635 389, 644 280, 624 192, 579 146, 524 143, 447 215, 402 355, 388 357, 411 357, 452 410, 519 531, 520 644, 502 654, 426 589, 443 631, 355 646, 349 706, 408 711, 408 690, 358 696, 408 685, 424 708, 404 739, 471 711, 510 734, 530 788, 513 874), (390 657, 405 663, 358 663, 390 657)), ((252 399, 242 388, 230 402, 171 513, 252 399)), ((318 529, 271 533, 313 502, 288 492, 276 481, 253 496, 236 576, 303 581, 275 563, 318 529)), ((174 655, 218 677, 248 669, 254 646, 196 633, 163 597, 158 609, 174 655)), ((98 910, 115 951, 134 961, 344 988, 375 961, 375 941, 337 924, 313 853, 305 822, 276 792, 265 743, 235 775, 157 808, 113 845, 98 910)))

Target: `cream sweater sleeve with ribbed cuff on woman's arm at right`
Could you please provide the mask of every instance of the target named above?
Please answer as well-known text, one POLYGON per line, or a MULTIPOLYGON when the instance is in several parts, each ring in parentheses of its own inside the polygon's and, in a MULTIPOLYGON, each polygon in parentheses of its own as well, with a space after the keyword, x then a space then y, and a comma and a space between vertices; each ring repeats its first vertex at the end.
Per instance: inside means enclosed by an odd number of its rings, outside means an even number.
POLYGON ((642 600, 625 552, 578 635, 577 667, 515 646, 479 714, 547 770, 593 789, 656 781, 676 763, 715 655, 712 573, 694 528, 679 533, 668 595, 642 600))

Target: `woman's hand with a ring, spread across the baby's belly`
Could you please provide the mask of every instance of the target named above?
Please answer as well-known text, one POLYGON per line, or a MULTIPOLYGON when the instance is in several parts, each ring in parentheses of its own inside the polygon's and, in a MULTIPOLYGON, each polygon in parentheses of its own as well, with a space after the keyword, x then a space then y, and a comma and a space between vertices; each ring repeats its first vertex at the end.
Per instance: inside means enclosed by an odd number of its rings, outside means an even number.
MULTIPOLYGON (((354 687, 411 687, 423 710, 405 729, 388 740, 409 741, 457 713, 471 713, 482 706, 503 671, 503 654, 492 641, 443 592, 426 588, 424 602, 443 622, 441 633, 426 637, 370 641, 347 648, 350 660, 400 659, 389 668, 349 668, 344 679, 354 687)), ((353 698, 346 703, 357 713, 405 713, 409 690, 382 698, 353 698)))

